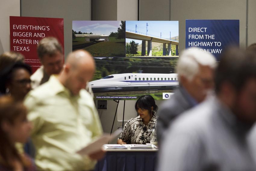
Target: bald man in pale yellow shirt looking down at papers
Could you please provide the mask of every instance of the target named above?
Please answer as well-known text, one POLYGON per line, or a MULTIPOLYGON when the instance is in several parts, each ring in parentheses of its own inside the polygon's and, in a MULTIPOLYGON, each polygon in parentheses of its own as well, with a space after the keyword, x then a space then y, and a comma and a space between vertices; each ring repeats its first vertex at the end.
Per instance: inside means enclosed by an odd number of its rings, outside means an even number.
POLYGON ((92 56, 70 53, 59 76, 52 75, 25 99, 33 123, 38 170, 93 170, 103 152, 80 156, 76 151, 102 134, 94 102, 84 89, 95 72, 92 56))

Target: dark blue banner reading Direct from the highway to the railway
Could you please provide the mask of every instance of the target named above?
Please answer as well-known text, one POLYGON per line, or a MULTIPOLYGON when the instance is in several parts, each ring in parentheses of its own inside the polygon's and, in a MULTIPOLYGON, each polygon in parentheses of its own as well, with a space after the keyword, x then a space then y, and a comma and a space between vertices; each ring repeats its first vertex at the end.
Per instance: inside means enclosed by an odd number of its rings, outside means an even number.
POLYGON ((198 47, 219 60, 230 45, 239 46, 239 20, 186 19, 186 48, 198 47))

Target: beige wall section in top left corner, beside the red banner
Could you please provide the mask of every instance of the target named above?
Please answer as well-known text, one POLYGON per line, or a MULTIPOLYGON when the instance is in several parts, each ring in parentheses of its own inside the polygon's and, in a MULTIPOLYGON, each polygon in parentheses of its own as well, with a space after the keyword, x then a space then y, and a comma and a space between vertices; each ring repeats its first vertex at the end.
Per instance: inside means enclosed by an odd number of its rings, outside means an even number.
POLYGON ((10 50, 10 16, 20 16, 20 0, 0 1, 0 54, 10 50))

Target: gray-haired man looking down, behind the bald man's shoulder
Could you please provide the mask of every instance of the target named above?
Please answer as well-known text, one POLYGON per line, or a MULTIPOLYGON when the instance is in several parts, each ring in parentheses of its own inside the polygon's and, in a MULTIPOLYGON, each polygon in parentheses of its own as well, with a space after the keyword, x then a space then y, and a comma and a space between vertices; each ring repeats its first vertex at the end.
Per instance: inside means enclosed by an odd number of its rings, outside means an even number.
POLYGON ((64 64, 63 49, 56 38, 47 37, 40 40, 37 53, 42 66, 30 78, 33 89, 47 82, 52 74, 59 74, 64 64))

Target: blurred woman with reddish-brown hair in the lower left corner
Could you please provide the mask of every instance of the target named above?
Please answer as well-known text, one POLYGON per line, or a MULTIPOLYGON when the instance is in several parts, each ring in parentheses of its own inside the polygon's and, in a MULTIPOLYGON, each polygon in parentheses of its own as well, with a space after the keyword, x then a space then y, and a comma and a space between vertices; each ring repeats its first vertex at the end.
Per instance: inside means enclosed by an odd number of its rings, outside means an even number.
POLYGON ((31 129, 26 107, 11 97, 0 97, 0 170, 36 170, 32 160, 15 148, 16 142, 27 141, 31 129))

